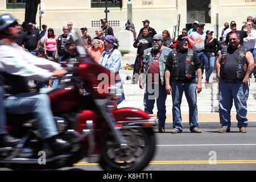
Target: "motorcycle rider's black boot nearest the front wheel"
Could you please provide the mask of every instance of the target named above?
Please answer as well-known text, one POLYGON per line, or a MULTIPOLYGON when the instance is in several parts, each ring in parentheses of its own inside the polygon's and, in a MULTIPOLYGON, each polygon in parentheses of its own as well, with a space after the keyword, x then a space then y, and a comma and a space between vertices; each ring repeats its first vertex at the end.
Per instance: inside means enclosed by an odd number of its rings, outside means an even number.
POLYGON ((71 150, 72 145, 63 139, 58 139, 56 136, 46 139, 55 155, 71 150))

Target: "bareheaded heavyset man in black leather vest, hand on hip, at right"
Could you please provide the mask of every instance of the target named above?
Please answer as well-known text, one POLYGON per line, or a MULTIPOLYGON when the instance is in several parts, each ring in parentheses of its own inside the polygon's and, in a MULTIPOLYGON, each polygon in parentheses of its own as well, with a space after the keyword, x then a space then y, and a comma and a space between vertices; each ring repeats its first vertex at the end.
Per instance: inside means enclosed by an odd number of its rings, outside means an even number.
POLYGON ((240 45, 240 35, 229 35, 229 46, 221 50, 216 62, 217 76, 220 81, 219 115, 222 125, 218 133, 230 132, 230 110, 233 105, 237 110, 237 126, 241 133, 246 133, 248 119, 247 98, 249 96, 248 79, 254 69, 253 54, 240 45))

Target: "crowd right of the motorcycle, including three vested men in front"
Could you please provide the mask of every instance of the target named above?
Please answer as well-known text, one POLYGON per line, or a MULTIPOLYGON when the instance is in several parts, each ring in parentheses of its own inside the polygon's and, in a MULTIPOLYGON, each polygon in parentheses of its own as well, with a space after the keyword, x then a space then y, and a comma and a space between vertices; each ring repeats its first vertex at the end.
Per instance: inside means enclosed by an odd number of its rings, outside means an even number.
POLYGON ((145 88, 144 111, 152 114, 156 100, 159 133, 164 133, 167 94, 172 94, 174 129, 171 133, 183 131, 180 110, 183 93, 189 106, 189 129, 201 133, 197 122, 196 90, 197 93, 202 90, 204 71, 204 82, 210 83, 214 68, 220 81, 221 129, 218 132, 230 131, 230 110, 234 100, 237 126, 241 133, 246 133, 248 80, 252 73, 256 78, 255 18, 248 16, 241 30, 237 30, 235 21, 230 22, 230 28, 229 23, 225 23, 220 40, 214 38, 212 30, 205 31, 205 24, 197 20, 190 30, 183 28, 175 41, 168 30, 156 34, 149 24, 149 20, 143 21, 143 28, 133 44, 138 51, 132 82, 136 84, 139 80, 139 86, 145 88))

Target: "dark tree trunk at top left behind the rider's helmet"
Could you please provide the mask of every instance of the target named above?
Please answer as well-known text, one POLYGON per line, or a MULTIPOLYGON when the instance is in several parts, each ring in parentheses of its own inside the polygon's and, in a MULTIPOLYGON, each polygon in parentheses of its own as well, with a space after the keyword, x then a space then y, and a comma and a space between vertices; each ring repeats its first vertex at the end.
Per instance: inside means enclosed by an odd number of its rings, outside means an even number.
POLYGON ((26 11, 25 11, 25 20, 22 24, 22 27, 27 31, 27 24, 34 23, 36 24, 36 14, 38 13, 38 5, 40 0, 27 0, 26 1, 26 11))

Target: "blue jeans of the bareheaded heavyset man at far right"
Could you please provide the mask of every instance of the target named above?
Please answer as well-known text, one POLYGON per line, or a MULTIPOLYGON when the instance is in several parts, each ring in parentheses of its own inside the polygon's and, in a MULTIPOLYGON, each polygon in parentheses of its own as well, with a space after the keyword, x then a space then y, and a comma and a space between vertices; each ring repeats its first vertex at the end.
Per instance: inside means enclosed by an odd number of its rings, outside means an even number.
POLYGON ((220 82, 220 95, 218 98, 220 108, 218 109, 220 115, 220 123, 222 127, 230 128, 230 111, 233 105, 237 110, 237 126, 247 126, 247 99, 249 96, 249 86, 243 85, 242 82, 220 82))

